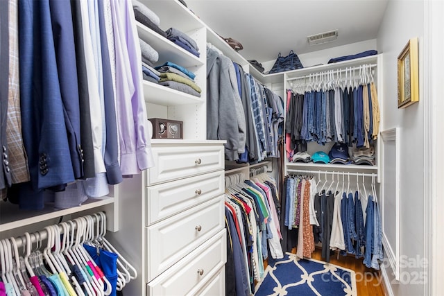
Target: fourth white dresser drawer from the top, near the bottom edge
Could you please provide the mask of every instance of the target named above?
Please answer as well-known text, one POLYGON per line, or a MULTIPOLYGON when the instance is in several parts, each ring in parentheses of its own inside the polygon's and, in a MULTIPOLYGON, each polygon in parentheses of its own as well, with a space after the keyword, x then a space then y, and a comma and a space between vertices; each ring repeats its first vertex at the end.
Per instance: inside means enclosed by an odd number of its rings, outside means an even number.
POLYGON ((223 265, 227 261, 226 246, 225 229, 223 229, 148 283, 147 295, 196 295, 199 290, 204 289, 208 281, 214 279, 221 269, 223 270, 223 265))

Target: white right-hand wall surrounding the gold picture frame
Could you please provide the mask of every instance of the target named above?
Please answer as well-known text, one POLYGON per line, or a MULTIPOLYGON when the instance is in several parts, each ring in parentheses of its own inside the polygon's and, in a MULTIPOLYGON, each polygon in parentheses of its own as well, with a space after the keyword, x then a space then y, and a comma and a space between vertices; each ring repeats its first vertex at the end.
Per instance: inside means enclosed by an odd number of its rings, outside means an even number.
MULTIPOLYGON (((384 19, 377 36, 377 51, 384 53, 384 102, 381 130, 400 127, 400 255, 416 262, 426 256, 425 245, 425 107, 424 96, 424 1, 388 1, 384 19), (418 37, 419 50, 419 103, 398 110, 397 103, 397 58, 411 37, 418 37)), ((384 164, 383 164, 384 165, 384 164)), ((395 182, 395 180, 385 180, 395 182)), ((388 198, 388 197, 386 197, 388 198)), ((388 209, 391 211, 391 209, 388 209)), ((394 212, 394 209, 393 209, 394 212)), ((405 264, 404 264, 405 265, 405 264)), ((395 281, 391 268, 388 274, 388 289, 394 295, 424 295, 426 268, 401 265, 401 281, 395 281), (420 273, 424 272, 424 273, 420 273), (418 276, 418 277, 417 277, 418 276), (416 280, 415 280, 416 279, 416 280)), ((413 265, 413 264, 412 264, 413 265)))

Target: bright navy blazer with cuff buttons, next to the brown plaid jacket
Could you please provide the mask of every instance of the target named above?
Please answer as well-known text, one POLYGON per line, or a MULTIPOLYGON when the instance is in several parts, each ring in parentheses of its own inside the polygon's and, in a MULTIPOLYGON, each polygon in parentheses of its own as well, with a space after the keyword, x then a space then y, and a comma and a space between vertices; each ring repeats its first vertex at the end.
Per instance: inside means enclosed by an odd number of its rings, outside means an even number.
POLYGON ((31 184, 18 184, 19 204, 42 209, 42 189, 74 182, 74 171, 49 0, 19 0, 19 19, 22 133, 31 176, 31 184))

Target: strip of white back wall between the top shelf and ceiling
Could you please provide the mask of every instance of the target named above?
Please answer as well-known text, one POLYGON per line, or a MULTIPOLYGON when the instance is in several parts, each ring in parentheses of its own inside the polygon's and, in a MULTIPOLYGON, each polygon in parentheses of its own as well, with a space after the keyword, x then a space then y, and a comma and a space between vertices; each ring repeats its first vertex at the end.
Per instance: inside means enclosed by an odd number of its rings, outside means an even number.
MULTIPOLYGON (((322 51, 312 51, 310 53, 298 54, 299 60, 304 67, 314 66, 316 64, 327 64, 331 58, 338 58, 343 55, 354 55, 363 51, 376 49, 376 40, 366 40, 362 42, 336 46, 332 49, 323 49, 322 51)), ((316 50, 316 46, 313 47, 316 50)), ((297 54, 297 53, 296 53, 297 54)), ((265 71, 269 71, 276 60, 262 62, 265 71)))

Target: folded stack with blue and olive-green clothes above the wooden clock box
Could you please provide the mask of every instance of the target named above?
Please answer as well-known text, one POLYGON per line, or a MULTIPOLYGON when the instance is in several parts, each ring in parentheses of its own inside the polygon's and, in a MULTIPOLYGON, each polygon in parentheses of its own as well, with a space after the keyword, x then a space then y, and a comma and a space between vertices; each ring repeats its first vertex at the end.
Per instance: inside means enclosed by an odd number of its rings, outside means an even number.
POLYGON ((196 75, 191 71, 173 62, 166 62, 155 69, 160 73, 160 85, 200 97, 202 89, 194 82, 196 75))

